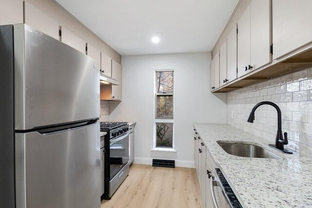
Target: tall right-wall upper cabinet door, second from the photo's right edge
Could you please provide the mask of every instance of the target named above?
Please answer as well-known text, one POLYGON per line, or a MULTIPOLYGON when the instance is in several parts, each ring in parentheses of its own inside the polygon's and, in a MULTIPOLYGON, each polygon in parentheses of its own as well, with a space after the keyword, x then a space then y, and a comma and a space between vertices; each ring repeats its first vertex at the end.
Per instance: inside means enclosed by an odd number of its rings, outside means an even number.
POLYGON ((250 4, 250 65, 254 69, 272 62, 271 0, 252 0, 250 4))

